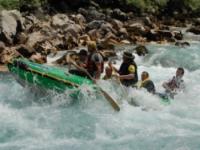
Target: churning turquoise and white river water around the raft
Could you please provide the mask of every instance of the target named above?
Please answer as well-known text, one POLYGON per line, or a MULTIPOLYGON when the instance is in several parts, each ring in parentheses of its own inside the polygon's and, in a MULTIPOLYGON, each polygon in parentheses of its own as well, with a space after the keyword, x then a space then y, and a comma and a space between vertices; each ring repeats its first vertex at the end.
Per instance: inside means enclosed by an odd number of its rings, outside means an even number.
POLYGON ((200 43, 147 48, 148 55, 136 56, 138 71, 150 73, 158 92, 164 91, 161 85, 176 67, 185 68, 186 90, 168 106, 145 90, 122 91, 115 82, 100 81, 120 103, 121 111, 115 112, 90 87, 83 85, 83 94, 74 102, 67 91, 35 95, 11 75, 1 74, 0 150, 199 150, 200 43))

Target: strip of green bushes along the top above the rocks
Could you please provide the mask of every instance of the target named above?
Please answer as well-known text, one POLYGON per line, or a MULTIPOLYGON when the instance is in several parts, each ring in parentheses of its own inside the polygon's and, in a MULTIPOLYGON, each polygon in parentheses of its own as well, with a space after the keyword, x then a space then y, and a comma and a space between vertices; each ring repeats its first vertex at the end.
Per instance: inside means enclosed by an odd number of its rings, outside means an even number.
MULTIPOLYGON (((199 0, 93 0, 100 7, 118 7, 136 13, 153 13, 173 15, 179 13, 196 13, 200 10, 199 0)), ((29 10, 40 6, 54 7, 57 11, 87 7, 92 0, 0 0, 1 9, 29 10), (59 6, 59 7, 58 7, 59 6)))

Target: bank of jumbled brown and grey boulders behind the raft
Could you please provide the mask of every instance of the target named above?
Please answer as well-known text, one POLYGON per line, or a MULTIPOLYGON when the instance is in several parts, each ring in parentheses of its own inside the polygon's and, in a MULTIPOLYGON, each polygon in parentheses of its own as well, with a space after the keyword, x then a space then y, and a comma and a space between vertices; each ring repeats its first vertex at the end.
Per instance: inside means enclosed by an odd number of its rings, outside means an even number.
MULTIPOLYGON (((3 10, 0 15, 0 64, 18 56, 46 63, 47 55, 78 49, 90 40, 97 42, 105 57, 114 55, 115 46, 119 44, 137 44, 136 53, 145 55, 148 50, 144 45, 151 41, 189 45, 184 41, 183 33, 171 30, 171 26, 192 24, 187 32, 200 34, 198 18, 188 21, 163 18, 148 14, 138 17, 133 12, 123 12, 119 8, 101 9, 98 5, 52 15, 43 13, 43 10, 36 13, 3 10)), ((57 61, 65 62, 65 57, 57 61)))

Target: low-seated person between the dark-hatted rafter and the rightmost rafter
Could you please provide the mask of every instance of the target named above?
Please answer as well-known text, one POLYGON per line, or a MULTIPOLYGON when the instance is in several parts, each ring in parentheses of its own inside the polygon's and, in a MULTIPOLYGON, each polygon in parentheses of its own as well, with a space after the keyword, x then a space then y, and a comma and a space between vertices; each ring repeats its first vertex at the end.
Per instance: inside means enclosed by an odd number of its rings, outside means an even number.
POLYGON ((139 88, 145 88, 148 92, 155 94, 156 89, 155 85, 152 80, 149 78, 149 73, 146 71, 143 71, 141 74, 141 81, 137 83, 137 86, 139 88))

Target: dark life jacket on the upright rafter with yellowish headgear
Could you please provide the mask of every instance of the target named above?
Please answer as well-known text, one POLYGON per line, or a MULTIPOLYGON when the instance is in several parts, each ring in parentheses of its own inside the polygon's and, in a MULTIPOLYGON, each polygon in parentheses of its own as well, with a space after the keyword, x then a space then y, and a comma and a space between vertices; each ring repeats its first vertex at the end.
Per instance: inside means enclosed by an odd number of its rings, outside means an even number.
MULTIPOLYGON (((90 75, 91 75, 92 77, 94 77, 95 72, 97 71, 97 67, 96 67, 96 65, 95 65, 95 62, 92 60, 93 55, 95 55, 96 53, 98 53, 98 52, 89 54, 89 56, 88 56, 87 70, 88 70, 88 72, 90 73, 90 75)), ((101 62, 101 73, 103 73, 103 71, 104 71, 103 56, 102 56, 101 53, 98 53, 98 54, 100 54, 100 56, 102 57, 102 62, 101 62)))

